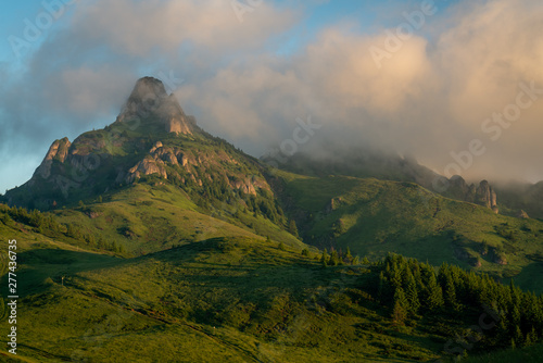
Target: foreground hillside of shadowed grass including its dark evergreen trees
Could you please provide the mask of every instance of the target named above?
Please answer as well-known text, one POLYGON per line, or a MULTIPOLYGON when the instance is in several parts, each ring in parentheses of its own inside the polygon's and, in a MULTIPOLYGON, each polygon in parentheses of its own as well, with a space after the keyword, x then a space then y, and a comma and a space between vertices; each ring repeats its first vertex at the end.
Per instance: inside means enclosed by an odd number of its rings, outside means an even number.
POLYGON ((473 341, 484 305, 500 324, 470 354, 541 336, 541 316, 528 315, 541 314, 541 298, 452 266, 435 274, 400 256, 352 265, 332 251, 324 267, 320 254, 251 238, 122 259, 2 221, 20 241, 20 354, 39 362, 427 361, 458 353, 456 335, 473 341))

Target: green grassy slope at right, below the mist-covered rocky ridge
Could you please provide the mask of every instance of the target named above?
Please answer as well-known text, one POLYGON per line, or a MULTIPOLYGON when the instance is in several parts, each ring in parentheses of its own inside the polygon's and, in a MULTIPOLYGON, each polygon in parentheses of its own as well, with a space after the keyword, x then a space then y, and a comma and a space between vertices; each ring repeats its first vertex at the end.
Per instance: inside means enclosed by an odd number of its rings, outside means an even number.
POLYGON ((350 247, 359 255, 396 252, 434 265, 445 261, 470 267, 479 258, 479 270, 502 277, 517 276, 523 288, 543 291, 539 280, 543 271, 540 221, 496 215, 411 183, 317 178, 285 172, 277 175, 285 180, 285 197, 298 211, 305 211, 299 212, 299 220, 305 225, 304 241, 310 245, 343 250, 350 247), (513 230, 515 240, 501 236, 498 228, 513 230), (490 249, 485 255, 483 241, 490 249), (507 265, 495 263, 494 250, 504 252, 507 265))

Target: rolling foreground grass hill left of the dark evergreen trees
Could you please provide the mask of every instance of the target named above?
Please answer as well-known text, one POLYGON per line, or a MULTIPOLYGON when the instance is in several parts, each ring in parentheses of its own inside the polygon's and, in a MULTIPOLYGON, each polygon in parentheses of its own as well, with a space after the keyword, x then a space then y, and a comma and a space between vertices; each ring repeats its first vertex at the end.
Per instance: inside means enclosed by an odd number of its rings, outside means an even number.
POLYGON ((126 260, 0 229, 20 241, 24 361, 405 362, 442 346, 394 330, 379 309, 326 309, 361 277, 264 240, 216 238, 126 260))

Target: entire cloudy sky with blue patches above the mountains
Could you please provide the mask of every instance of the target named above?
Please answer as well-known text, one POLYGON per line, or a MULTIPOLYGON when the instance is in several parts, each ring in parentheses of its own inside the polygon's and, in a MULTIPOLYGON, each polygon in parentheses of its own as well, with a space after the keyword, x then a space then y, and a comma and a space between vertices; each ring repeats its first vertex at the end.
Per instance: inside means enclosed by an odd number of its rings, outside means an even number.
POLYGON ((2 2, 0 192, 113 123, 142 76, 255 157, 369 147, 543 180, 541 34, 540 0, 2 2))

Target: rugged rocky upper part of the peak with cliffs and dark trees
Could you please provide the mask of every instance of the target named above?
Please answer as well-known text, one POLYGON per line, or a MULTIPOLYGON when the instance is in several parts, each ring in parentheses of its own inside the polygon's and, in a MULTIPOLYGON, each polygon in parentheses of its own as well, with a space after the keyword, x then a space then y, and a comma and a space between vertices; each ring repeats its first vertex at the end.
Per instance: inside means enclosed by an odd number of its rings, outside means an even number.
POLYGON ((55 140, 31 179, 4 199, 48 210, 151 176, 202 192, 212 183, 248 195, 270 189, 256 160, 203 132, 161 80, 144 77, 113 124, 55 140))

